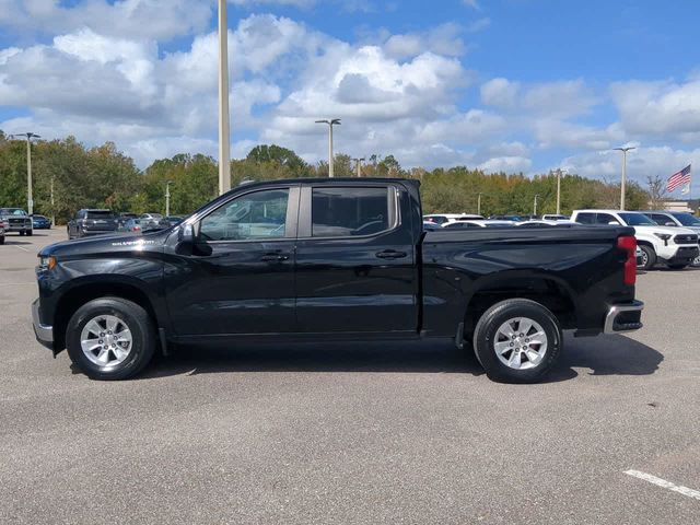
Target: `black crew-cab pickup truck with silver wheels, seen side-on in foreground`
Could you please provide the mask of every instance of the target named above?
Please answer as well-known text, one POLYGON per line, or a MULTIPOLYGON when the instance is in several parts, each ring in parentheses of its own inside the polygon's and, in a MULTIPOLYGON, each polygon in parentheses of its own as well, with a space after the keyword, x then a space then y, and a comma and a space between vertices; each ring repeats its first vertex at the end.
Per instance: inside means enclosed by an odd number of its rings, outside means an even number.
POLYGON ((253 183, 182 224, 39 253, 37 339, 90 377, 171 343, 450 338, 535 382, 576 336, 640 328, 633 230, 424 231, 419 183, 253 183))

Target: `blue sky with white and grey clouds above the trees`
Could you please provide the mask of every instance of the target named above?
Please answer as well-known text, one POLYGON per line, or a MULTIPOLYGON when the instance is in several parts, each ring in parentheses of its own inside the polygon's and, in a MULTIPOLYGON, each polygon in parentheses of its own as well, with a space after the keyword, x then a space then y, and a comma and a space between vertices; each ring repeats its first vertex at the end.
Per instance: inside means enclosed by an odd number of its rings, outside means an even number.
MULTIPOLYGON (((410 166, 615 180, 700 162, 700 3, 231 0, 234 156, 275 142, 410 166)), ((0 0, 0 129, 215 154, 215 3, 0 0)), ((693 191, 696 194, 696 191, 693 191)))

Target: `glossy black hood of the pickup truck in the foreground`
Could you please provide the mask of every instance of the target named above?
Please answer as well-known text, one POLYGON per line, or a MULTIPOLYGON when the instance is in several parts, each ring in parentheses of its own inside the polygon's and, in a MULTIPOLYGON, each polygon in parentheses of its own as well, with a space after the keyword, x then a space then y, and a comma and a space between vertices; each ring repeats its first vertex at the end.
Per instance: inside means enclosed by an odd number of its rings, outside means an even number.
POLYGON ((158 232, 144 233, 141 235, 129 235, 126 233, 117 235, 97 235, 94 237, 75 238, 62 241, 44 247, 39 252, 39 257, 73 257, 91 256, 103 254, 119 254, 121 252, 140 252, 143 249, 159 249, 172 232, 172 228, 158 232))

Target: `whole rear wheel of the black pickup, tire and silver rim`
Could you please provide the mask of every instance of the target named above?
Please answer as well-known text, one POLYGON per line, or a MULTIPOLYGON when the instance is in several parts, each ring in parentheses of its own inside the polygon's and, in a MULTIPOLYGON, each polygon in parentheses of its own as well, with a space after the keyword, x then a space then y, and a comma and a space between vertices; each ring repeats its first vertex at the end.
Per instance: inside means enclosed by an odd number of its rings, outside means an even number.
POLYGON ((561 353, 557 317, 541 304, 511 299, 485 312, 474 332, 474 350, 487 375, 503 383, 536 383, 561 353))

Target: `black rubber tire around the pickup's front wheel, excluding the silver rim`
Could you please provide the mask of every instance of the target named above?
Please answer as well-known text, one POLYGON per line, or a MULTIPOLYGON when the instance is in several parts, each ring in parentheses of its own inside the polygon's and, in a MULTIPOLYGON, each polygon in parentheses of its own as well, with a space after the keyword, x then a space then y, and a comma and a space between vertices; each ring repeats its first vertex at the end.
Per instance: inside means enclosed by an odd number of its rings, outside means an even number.
POLYGON ((138 304, 121 298, 102 298, 83 304, 73 314, 66 328, 68 354, 75 366, 92 380, 128 380, 137 375, 151 361, 156 346, 153 320, 138 304), (119 318, 128 326, 132 341, 127 358, 112 366, 93 363, 82 350, 81 332, 85 325, 100 315, 119 318))

